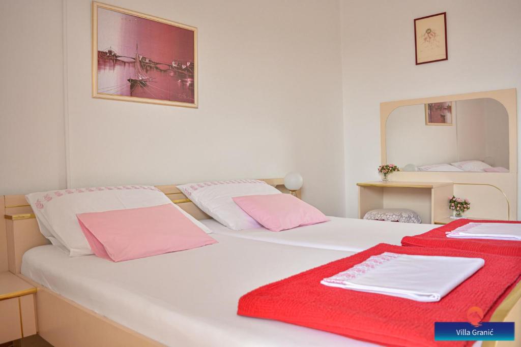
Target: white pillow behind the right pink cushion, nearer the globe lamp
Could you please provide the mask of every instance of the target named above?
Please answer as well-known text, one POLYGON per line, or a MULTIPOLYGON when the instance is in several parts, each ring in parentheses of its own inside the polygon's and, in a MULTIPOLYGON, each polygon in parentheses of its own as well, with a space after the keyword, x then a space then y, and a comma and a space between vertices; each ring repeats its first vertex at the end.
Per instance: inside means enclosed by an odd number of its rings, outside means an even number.
POLYGON ((233 202, 233 197, 282 194, 280 190, 257 179, 188 183, 177 187, 197 207, 212 216, 217 222, 233 230, 262 227, 233 202))

